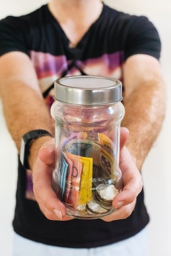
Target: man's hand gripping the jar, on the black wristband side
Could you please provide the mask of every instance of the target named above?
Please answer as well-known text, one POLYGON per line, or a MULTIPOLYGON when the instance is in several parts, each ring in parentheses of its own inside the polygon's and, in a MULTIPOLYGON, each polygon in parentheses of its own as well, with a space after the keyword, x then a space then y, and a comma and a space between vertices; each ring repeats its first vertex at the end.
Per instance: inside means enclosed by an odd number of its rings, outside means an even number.
POLYGON ((55 141, 49 139, 39 150, 33 165, 33 191, 42 213, 49 220, 71 220, 66 216, 66 207, 52 189, 52 172, 55 167, 55 141))

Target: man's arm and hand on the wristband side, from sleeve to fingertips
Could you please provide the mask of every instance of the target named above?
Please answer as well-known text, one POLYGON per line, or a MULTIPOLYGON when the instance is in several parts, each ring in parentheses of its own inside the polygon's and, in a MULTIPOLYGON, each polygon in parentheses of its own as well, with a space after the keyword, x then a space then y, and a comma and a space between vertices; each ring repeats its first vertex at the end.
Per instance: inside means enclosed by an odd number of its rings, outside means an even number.
MULTIPOLYGON (((21 52, 4 54, 0 58, 0 71, 0 96, 4 115, 19 153, 20 141, 25 133, 43 129, 53 134, 54 128, 29 57, 21 52)), ((47 218, 59 220, 63 217, 62 220, 69 220, 71 218, 66 217, 66 207, 57 199, 51 186, 54 164, 54 139, 48 136, 36 139, 30 148, 29 161, 36 201, 47 218), (47 153, 44 157, 47 164, 37 157, 41 147, 47 153)))

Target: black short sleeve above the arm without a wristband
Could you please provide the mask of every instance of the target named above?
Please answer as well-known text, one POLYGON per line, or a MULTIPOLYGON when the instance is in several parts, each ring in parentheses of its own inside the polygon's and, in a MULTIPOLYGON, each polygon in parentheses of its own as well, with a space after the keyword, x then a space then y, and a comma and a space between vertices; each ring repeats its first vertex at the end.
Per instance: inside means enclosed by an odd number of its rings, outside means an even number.
POLYGON ((145 16, 132 16, 126 28, 124 58, 134 54, 147 54, 160 58, 161 41, 152 22, 145 16))

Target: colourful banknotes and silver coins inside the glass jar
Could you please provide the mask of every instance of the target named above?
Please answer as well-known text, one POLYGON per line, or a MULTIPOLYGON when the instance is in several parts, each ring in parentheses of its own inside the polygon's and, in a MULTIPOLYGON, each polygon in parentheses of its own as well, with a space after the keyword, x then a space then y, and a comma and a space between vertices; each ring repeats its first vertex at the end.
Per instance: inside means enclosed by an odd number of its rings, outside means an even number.
POLYGON ((106 181, 113 174, 115 158, 112 141, 103 134, 78 134, 63 143, 59 166, 60 199, 73 208, 101 214, 112 208, 118 194, 114 184, 106 181))

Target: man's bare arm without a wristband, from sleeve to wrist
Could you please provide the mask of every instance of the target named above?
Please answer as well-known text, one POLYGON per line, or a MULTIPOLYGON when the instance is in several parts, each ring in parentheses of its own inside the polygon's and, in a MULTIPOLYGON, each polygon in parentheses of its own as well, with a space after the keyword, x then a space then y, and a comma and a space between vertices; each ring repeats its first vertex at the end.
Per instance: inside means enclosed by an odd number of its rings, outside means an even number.
POLYGON ((126 146, 139 169, 161 130, 165 113, 165 86, 159 61, 145 54, 129 57, 123 68, 126 146))

